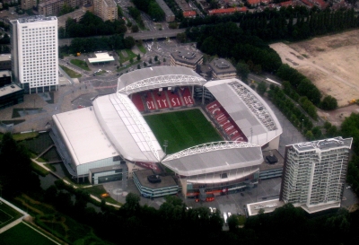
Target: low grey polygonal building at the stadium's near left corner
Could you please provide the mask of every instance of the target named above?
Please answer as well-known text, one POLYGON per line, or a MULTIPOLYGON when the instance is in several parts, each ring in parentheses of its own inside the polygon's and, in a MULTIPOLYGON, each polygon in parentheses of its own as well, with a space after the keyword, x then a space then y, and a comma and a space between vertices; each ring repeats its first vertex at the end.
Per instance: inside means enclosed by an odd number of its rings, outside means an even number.
POLYGON ((172 176, 156 175, 152 170, 134 171, 133 179, 143 197, 165 197, 177 194, 180 189, 172 176))

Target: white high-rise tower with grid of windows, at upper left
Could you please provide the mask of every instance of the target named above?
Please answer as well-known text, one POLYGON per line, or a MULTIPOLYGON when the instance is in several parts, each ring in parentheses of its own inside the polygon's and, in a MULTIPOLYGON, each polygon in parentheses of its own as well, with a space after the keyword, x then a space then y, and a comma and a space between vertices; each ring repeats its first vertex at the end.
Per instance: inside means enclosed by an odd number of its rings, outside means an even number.
POLYGON ((26 93, 57 90, 57 17, 11 21, 13 81, 26 93))

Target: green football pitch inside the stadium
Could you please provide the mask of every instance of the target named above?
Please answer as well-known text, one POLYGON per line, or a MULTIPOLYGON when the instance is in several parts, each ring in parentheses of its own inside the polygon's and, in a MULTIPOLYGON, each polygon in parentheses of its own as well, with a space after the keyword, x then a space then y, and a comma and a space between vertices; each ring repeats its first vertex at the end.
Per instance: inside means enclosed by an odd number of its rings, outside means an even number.
POLYGON ((170 154, 223 140, 199 109, 144 116, 144 119, 161 145, 168 140, 167 153, 170 154))

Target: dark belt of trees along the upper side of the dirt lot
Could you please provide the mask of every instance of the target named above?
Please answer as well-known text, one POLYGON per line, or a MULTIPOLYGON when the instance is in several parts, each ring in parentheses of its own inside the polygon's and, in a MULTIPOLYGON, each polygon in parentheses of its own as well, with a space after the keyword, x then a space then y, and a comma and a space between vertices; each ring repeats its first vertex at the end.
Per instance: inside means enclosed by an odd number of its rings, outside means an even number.
POLYGON ((205 18, 185 19, 180 28, 223 22, 237 22, 241 30, 265 41, 281 39, 302 40, 328 33, 346 31, 359 26, 353 9, 320 10, 305 6, 281 7, 279 11, 266 8, 260 13, 233 13, 211 15, 205 18))

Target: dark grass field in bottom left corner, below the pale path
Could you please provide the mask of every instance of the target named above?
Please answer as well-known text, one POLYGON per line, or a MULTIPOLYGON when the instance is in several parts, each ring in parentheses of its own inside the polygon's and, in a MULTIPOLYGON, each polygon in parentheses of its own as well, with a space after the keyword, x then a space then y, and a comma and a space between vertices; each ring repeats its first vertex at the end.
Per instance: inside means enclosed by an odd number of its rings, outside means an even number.
POLYGON ((7 230, 4 233, 1 233, 0 241, 1 244, 16 244, 16 245, 55 244, 53 241, 48 240, 48 238, 39 234, 39 232, 35 232, 24 223, 19 223, 16 226, 14 226, 12 229, 7 230))

